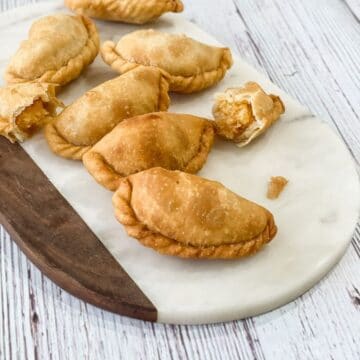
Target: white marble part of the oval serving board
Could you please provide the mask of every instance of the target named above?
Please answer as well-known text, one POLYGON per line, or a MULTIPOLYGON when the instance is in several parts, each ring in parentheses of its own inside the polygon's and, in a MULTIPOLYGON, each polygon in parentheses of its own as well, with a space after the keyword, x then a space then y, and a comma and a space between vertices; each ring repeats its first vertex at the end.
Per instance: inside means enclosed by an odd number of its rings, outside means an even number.
MULTIPOLYGON (((32 21, 66 12, 59 2, 18 9, 0 17, 3 73, 27 36, 32 21)), ((101 40, 117 40, 138 27, 97 22, 101 40)), ((149 26, 143 26, 144 28, 149 26)), ((178 14, 152 28, 218 42, 178 14)), ((253 257, 235 261, 192 261, 164 256, 128 237, 115 220, 109 191, 97 185, 81 162, 53 155, 39 134, 23 144, 52 184, 126 270, 157 310, 157 321, 200 324, 257 315, 284 305, 314 286, 344 254, 358 219, 359 180, 339 137, 320 119, 235 55, 217 86, 192 95, 171 94, 172 112, 211 117, 216 92, 257 81, 284 100, 286 113, 264 136, 245 148, 217 140, 199 175, 222 182, 275 216, 276 238, 253 257), (289 184, 277 200, 265 196, 270 176, 289 184)), ((60 94, 70 104, 116 74, 100 56, 60 94)), ((141 94, 140 94, 141 95, 141 94)), ((56 209, 54 209, 56 211, 56 209)))

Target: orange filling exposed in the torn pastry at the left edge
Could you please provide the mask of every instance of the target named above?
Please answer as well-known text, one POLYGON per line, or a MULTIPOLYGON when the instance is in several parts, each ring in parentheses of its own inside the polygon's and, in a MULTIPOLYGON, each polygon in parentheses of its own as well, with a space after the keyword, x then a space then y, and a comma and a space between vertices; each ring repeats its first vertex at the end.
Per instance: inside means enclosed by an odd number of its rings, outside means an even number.
POLYGON ((38 99, 17 116, 15 123, 21 132, 33 135, 46 124, 48 115, 49 111, 45 108, 45 104, 38 99))

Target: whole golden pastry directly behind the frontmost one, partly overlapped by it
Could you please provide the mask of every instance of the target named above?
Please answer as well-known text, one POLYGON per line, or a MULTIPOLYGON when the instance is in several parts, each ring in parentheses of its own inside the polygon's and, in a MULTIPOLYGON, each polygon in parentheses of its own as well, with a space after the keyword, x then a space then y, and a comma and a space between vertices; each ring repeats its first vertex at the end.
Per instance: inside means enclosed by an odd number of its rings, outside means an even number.
POLYGON ((122 121, 83 156, 83 162, 97 182, 115 191, 122 177, 156 166, 199 171, 213 141, 212 121, 152 113, 122 121))

